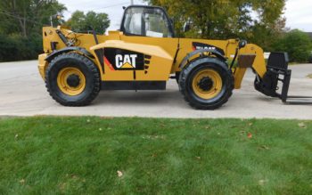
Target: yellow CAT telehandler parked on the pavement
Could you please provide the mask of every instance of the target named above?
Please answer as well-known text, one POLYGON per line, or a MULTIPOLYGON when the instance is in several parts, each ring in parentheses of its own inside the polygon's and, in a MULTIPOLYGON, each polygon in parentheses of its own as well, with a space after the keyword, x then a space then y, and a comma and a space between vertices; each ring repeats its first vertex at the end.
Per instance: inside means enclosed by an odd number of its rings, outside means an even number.
POLYGON ((214 110, 241 87, 248 68, 260 93, 283 102, 298 98, 287 95, 287 53, 271 53, 266 64, 263 50, 244 40, 176 37, 168 14, 157 6, 128 6, 120 29, 108 35, 58 26, 44 27, 43 39, 39 72, 47 91, 64 106, 86 106, 101 89, 164 90, 168 79, 176 78, 193 108, 214 110))

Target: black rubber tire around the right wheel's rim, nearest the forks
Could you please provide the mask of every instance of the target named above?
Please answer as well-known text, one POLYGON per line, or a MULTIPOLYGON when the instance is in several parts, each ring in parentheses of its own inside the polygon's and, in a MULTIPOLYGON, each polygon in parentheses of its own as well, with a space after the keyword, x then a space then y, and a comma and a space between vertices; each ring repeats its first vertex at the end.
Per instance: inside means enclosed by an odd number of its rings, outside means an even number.
POLYGON ((234 89, 234 77, 227 64, 217 58, 198 58, 191 61, 182 70, 179 77, 179 89, 184 95, 185 101, 188 102, 194 109, 197 110, 216 110, 224 105, 231 97, 234 89), (222 79, 222 88, 216 97, 211 99, 202 99, 193 91, 193 77, 203 70, 213 69, 218 72, 222 79))

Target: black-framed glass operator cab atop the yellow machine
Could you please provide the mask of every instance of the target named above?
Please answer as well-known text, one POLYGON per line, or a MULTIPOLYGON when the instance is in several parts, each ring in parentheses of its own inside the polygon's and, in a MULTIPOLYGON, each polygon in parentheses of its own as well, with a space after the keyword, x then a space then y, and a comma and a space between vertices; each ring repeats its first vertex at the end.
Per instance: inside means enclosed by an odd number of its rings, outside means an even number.
POLYGON ((163 8, 156 6, 128 6, 121 22, 120 31, 126 36, 175 36, 167 13, 163 8))

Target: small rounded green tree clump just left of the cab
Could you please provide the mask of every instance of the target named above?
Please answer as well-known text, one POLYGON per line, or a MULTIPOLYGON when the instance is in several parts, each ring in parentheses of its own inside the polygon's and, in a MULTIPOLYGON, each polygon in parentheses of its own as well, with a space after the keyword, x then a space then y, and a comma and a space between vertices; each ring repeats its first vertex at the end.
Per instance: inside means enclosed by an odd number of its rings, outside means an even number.
POLYGON ((67 20, 66 25, 78 32, 90 30, 91 27, 96 33, 103 34, 110 27, 110 23, 106 13, 87 12, 85 14, 76 11, 72 13, 70 20, 67 20))

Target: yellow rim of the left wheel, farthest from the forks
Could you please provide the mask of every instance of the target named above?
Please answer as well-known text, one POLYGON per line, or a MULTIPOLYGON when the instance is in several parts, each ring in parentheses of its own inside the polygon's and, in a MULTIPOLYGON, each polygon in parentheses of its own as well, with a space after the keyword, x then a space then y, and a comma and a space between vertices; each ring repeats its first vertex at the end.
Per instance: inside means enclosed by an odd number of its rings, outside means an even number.
POLYGON ((80 69, 69 67, 61 69, 57 76, 57 85, 62 93, 75 96, 82 93, 86 88, 86 77, 80 69), (70 81, 71 79, 71 81, 70 81), (74 79, 72 81, 72 79, 74 79))

